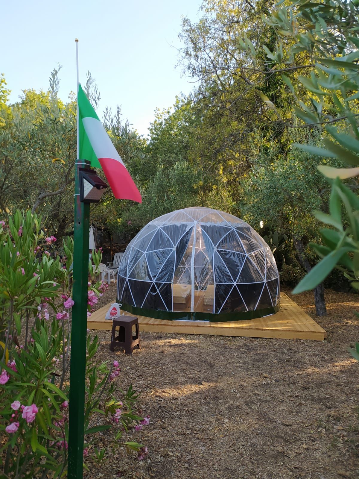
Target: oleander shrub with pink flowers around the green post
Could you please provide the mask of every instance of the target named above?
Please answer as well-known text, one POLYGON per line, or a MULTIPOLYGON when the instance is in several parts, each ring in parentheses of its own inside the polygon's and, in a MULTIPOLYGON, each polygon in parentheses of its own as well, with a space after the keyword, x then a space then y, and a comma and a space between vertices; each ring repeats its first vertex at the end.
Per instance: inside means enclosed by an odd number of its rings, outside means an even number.
MULTIPOLYGON (((72 240, 64 241, 66 257, 45 238, 41 218, 16 212, 0 224, 0 465, 5 478, 57 478, 67 470, 72 240)), ((91 281, 101 262, 93 254, 91 281)), ((101 282, 90 284, 101 294, 101 282)), ((92 296, 91 297, 94 297, 92 296)), ((89 305, 90 307, 91 305, 89 305)), ((114 379, 120 370, 95 359, 98 337, 87 339, 84 461, 99 461, 96 433, 119 424, 125 431, 142 418, 134 413, 132 388, 119 400, 114 379)), ((110 446, 121 441, 121 429, 110 446)), ((139 445, 125 443, 142 454, 139 445)))

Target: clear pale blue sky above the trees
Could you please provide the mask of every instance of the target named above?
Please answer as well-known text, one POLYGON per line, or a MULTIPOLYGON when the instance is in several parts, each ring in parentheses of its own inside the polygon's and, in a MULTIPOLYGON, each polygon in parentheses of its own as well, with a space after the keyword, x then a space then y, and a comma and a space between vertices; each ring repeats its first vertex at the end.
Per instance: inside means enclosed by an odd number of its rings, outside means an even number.
POLYGON ((76 91, 75 38, 79 38, 79 80, 91 71, 106 106, 122 105, 123 118, 147 137, 156 107, 188 94, 191 78, 175 68, 181 16, 196 21, 201 0, 7 1, 1 6, 0 72, 10 101, 22 90, 47 90, 50 71, 61 63, 59 96, 76 91))

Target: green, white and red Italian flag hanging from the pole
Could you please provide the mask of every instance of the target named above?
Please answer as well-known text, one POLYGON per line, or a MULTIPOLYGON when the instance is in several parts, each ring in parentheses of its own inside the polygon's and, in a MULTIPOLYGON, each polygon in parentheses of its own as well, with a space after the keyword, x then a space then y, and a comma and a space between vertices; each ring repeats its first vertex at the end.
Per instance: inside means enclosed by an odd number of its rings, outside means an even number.
POLYGON ((142 203, 141 194, 124 166, 116 148, 104 129, 89 99, 79 85, 79 160, 89 160, 94 168, 102 168, 113 194, 118 199, 142 203))

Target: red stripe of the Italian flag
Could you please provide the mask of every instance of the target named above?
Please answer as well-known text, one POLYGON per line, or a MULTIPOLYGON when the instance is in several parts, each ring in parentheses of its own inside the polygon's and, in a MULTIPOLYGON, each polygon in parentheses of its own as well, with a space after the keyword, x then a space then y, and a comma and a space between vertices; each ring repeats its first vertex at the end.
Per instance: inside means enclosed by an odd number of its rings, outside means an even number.
POLYGON ((99 161, 115 198, 142 203, 141 194, 134 180, 120 161, 113 158, 99 158, 99 161))

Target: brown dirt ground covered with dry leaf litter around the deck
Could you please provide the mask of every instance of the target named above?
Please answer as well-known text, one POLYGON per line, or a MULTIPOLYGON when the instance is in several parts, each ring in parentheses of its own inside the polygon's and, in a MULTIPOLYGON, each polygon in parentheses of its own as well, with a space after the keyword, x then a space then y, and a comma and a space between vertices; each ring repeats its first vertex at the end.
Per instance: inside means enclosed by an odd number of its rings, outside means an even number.
MULTIPOLYGON (((140 393, 149 426, 130 440, 143 461, 109 454, 95 478, 289 479, 359 477, 359 297, 326 291, 327 316, 312 293, 295 297, 328 333, 325 342, 141 333, 133 355, 110 353, 99 331, 99 360, 120 363, 117 378, 140 393)), ((112 285, 97 307, 115 298, 112 285)))

